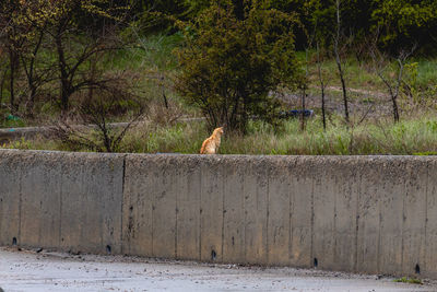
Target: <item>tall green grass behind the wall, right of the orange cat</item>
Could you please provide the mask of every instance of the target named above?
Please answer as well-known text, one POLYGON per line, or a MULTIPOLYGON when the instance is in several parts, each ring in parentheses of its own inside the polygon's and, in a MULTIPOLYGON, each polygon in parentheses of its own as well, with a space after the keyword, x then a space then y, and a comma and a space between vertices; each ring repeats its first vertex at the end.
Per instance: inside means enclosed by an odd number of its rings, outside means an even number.
POLYGON ((307 130, 299 130, 299 121, 285 124, 275 132, 265 125, 256 126, 247 137, 228 137, 222 153, 247 154, 415 154, 436 151, 436 120, 408 120, 363 125, 354 129, 342 124, 331 125, 324 132, 318 120, 311 120, 307 130), (257 129, 258 128, 258 129, 257 129))

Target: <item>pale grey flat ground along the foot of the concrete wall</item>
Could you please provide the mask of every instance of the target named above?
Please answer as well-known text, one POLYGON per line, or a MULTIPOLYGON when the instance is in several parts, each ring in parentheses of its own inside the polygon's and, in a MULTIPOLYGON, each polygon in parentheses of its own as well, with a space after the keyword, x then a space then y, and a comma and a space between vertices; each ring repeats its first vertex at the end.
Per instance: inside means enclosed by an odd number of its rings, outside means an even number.
POLYGON ((395 283, 381 276, 10 248, 0 248, 0 287, 5 292, 437 291, 434 281, 395 283))

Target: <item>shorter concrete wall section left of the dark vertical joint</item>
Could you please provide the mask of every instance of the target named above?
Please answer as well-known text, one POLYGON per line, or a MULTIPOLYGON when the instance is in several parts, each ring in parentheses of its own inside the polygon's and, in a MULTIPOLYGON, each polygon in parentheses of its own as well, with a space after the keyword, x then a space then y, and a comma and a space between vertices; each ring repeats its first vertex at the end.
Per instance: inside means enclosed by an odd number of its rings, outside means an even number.
POLYGON ((121 252, 122 155, 0 151, 0 238, 121 252))

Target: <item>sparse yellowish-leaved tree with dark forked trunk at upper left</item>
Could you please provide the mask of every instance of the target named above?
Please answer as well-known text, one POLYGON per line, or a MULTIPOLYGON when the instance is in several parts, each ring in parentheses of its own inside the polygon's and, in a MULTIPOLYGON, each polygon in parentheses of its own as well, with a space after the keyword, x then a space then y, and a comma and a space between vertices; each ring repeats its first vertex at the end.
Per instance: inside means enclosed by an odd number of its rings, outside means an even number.
MULTIPOLYGON (((106 2, 108 5, 113 3, 106 2)), ((50 49, 56 52, 57 60, 51 68, 60 83, 59 103, 63 114, 69 110, 70 97, 74 93, 87 89, 96 82, 94 77, 88 78, 87 63, 92 62, 92 59, 101 52, 122 48, 123 44, 117 36, 117 28, 122 25, 123 15, 115 17, 110 15, 109 10, 97 7, 86 8, 82 5, 81 0, 51 1, 36 5, 32 17, 27 17, 38 31, 38 35, 47 35, 49 40, 47 43, 52 45, 50 49), (105 21, 103 21, 103 25, 80 24, 78 11, 82 15, 88 16, 91 23, 98 22, 99 19, 110 19, 110 24, 106 24, 105 21), (44 25, 40 24, 40 17, 35 16, 38 13, 46 16, 47 23, 44 25)), ((27 78, 32 75, 31 71, 28 68, 27 78)), ((107 81, 109 80, 99 80, 99 82, 107 81)), ((32 90, 31 86, 31 95, 32 91, 34 89, 32 90)))

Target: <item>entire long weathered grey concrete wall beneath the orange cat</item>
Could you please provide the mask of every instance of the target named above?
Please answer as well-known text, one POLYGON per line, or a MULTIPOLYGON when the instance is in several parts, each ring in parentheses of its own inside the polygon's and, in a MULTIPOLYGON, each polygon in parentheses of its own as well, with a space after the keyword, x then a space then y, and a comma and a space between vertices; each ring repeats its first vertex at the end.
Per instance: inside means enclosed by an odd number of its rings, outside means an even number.
POLYGON ((437 279, 436 188, 433 157, 0 150, 0 244, 437 279))

